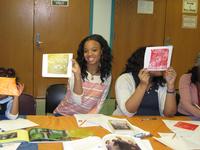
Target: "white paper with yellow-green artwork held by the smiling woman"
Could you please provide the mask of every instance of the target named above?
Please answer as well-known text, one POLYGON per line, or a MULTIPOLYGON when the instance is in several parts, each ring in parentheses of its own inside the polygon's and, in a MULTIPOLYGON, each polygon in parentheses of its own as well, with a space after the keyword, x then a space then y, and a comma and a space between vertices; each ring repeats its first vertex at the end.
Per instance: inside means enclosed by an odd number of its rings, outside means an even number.
POLYGON ((72 53, 43 54, 42 77, 69 78, 72 75, 72 53))

